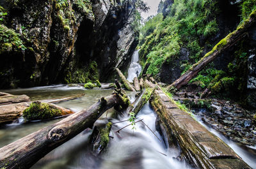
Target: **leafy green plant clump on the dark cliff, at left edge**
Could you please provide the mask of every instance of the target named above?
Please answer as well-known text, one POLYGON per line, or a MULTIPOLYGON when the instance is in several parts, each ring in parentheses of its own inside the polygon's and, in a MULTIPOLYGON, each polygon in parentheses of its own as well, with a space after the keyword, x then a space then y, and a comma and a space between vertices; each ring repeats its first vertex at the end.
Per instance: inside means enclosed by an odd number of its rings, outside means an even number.
POLYGON ((19 34, 15 33, 13 29, 0 24, 0 54, 10 51, 26 50, 26 47, 22 40, 20 40, 19 34))

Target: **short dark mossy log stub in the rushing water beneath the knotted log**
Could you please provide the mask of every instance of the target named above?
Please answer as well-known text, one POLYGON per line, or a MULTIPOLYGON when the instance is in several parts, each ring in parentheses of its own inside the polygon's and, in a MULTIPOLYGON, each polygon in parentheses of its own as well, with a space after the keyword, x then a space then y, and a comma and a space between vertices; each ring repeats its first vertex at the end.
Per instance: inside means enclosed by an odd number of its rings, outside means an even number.
POLYGON ((108 122, 103 126, 94 126, 90 142, 92 143, 93 154, 99 155, 106 147, 108 147, 109 133, 112 123, 108 122))

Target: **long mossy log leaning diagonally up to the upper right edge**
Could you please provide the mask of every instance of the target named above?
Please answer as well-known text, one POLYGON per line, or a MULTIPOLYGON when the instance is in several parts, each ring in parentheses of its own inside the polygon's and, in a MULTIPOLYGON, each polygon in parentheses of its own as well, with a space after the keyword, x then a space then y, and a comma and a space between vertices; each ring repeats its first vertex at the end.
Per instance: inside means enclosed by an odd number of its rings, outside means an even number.
POLYGON ((184 73, 180 78, 175 80, 173 84, 168 86, 168 90, 173 88, 180 89, 183 85, 188 84, 188 82, 196 77, 199 71, 201 71, 209 62, 212 62, 221 52, 227 50, 227 48, 232 47, 237 43, 237 41, 242 40, 246 36, 246 32, 248 28, 251 27, 255 23, 256 10, 254 10, 250 17, 247 20, 244 20, 241 26, 238 26, 236 31, 228 34, 223 40, 221 40, 214 48, 212 48, 211 52, 205 54, 205 56, 196 64, 194 64, 191 68, 189 68, 186 73, 184 73))

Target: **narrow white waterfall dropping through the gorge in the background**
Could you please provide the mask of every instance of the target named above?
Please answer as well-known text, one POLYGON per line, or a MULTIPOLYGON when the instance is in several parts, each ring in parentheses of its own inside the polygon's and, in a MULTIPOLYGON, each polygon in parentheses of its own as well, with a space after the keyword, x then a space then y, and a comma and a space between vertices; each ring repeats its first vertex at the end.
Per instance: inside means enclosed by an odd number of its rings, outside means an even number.
POLYGON ((139 61, 139 50, 136 50, 132 55, 132 61, 128 69, 128 77, 127 80, 132 82, 134 77, 138 77, 141 73, 141 66, 138 63, 139 61))

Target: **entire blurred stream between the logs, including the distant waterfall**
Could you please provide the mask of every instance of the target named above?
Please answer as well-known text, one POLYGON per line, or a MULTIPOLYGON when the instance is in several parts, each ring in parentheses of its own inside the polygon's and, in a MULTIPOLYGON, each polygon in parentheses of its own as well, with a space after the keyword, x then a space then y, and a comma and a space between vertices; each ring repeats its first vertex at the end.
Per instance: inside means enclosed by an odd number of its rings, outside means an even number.
MULTIPOLYGON (((140 71, 141 67, 140 64, 138 64, 138 51, 136 51, 132 56, 132 62, 129 68, 129 77, 127 79, 132 81, 134 77, 138 76, 140 71)), ((88 90, 79 85, 77 85, 77 87, 68 87, 68 85, 50 85, 29 89, 12 89, 3 92, 8 92, 10 94, 27 94, 32 100, 55 99, 63 96, 72 96, 72 94, 84 94, 81 98, 62 101, 57 104, 61 107, 70 108, 74 110, 74 112, 79 112, 84 108, 90 107, 90 105, 97 102, 100 97, 108 96, 113 92, 113 90, 88 90)), ((134 101, 136 93, 127 92, 127 94, 131 98, 131 101, 134 101)), ((113 111, 113 109, 109 110, 108 117, 110 117, 111 112, 113 111)), ((106 114, 103 114, 102 117, 106 117, 106 114)), ((137 122, 135 129, 132 129, 132 126, 128 126, 127 128, 122 129, 119 133, 116 133, 118 129, 130 124, 125 121, 127 119, 129 119, 128 115, 118 115, 118 117, 110 119, 111 122, 113 122, 113 126, 111 128, 109 146, 106 151, 100 154, 100 156, 93 155, 89 143, 92 129, 86 129, 68 142, 51 151, 44 158, 40 159, 40 161, 38 161, 32 168, 191 168, 186 164, 186 162, 180 162, 176 159, 179 156, 179 150, 166 147, 164 139, 156 130, 156 114, 148 103, 140 110, 136 119, 136 121, 143 119, 145 124, 143 122, 137 122)), ((200 118, 197 119, 200 121, 200 118)), ((97 122, 102 120, 103 119, 99 119, 97 122)), ((0 147, 3 147, 8 143, 12 143, 19 138, 58 121, 61 121, 61 118, 49 121, 30 122, 28 124, 20 122, 1 126, 0 147)), ((237 152, 237 154, 239 154, 239 156, 241 156, 248 165, 255 168, 255 155, 237 146, 236 143, 227 140, 227 138, 221 136, 208 126, 205 127, 230 145, 230 147, 232 147, 232 149, 234 149, 234 151, 237 152)))

